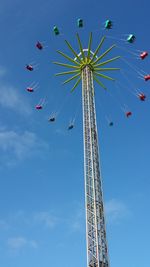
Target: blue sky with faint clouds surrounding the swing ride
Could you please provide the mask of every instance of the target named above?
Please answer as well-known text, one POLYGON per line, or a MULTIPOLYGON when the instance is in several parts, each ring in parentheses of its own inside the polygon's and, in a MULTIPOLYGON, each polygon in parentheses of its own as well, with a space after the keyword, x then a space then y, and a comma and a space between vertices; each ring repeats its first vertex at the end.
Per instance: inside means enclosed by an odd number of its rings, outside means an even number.
MULTIPOLYGON (((61 68, 52 61, 63 60, 56 50, 67 52, 65 39, 77 49, 76 32, 86 46, 92 31, 94 50, 108 18, 114 26, 106 35, 136 35, 135 44, 117 40, 119 46, 149 51, 149 8, 146 0, 0 1, 0 266, 86 266, 81 86, 70 94, 71 85, 54 76, 61 68), (77 28, 79 17, 83 29, 77 28), (54 36, 54 25, 60 36, 54 36), (43 51, 35 48, 37 40, 43 51), (38 64, 33 73, 25 69, 30 62, 38 64), (29 94, 26 87, 34 81, 39 88, 29 94), (41 98, 46 105, 37 111, 41 98), (53 125, 47 121, 52 112, 58 112, 53 125)), ((115 42, 107 39, 105 49, 115 42)), ((149 57, 140 61, 119 48, 111 55, 150 72, 149 57)), ((121 60, 112 65, 130 82, 118 72, 119 87, 106 82, 105 92, 95 85, 110 263, 148 266, 149 82, 121 60), (145 102, 135 88, 146 94, 145 102), (133 112, 129 119, 124 104, 133 112)))

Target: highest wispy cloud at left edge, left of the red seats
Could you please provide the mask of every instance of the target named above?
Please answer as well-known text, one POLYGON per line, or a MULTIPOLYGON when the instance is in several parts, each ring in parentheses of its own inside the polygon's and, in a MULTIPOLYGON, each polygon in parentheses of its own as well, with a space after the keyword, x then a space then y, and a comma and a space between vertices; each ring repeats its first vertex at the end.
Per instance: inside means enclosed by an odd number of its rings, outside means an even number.
POLYGON ((20 112, 22 115, 30 115, 32 112, 25 97, 17 89, 9 85, 2 84, 0 86, 0 105, 4 108, 20 112))

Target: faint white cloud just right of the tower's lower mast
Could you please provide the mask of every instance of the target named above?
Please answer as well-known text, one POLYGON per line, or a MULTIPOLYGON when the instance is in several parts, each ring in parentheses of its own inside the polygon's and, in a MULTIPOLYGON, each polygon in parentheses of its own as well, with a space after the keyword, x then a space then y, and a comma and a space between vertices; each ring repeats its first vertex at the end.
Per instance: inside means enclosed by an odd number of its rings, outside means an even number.
POLYGON ((118 223, 121 219, 129 216, 127 206, 116 199, 111 199, 105 204, 106 220, 108 223, 118 223))

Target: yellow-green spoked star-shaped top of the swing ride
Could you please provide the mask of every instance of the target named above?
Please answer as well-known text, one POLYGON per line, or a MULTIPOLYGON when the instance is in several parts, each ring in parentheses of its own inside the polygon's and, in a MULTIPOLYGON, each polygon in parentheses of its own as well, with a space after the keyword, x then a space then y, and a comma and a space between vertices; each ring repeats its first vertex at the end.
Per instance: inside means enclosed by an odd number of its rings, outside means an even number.
POLYGON ((77 54, 75 52, 75 50, 72 48, 71 44, 65 40, 69 50, 71 51, 71 53, 73 54, 73 56, 75 58, 71 58, 69 57, 67 54, 64 54, 61 51, 57 51, 61 56, 63 56, 65 59, 67 59, 69 62, 73 63, 73 64, 66 64, 66 63, 61 63, 61 62, 54 62, 54 64, 57 64, 59 66, 63 66, 66 67, 68 69, 71 69, 70 71, 65 71, 65 72, 60 72, 57 73, 56 76, 63 76, 63 75, 71 75, 73 74, 73 76, 69 79, 67 79, 66 81, 63 82, 63 84, 66 84, 72 80, 76 80, 73 88, 71 91, 73 91, 78 84, 80 83, 81 79, 82 79, 82 70, 88 66, 92 73, 93 73, 93 79, 104 89, 107 89, 106 86, 98 79, 100 78, 104 78, 107 80, 112 80, 114 81, 115 79, 107 76, 103 73, 105 73, 105 71, 115 71, 115 70, 120 70, 119 68, 105 68, 103 66, 107 65, 108 63, 113 62, 116 59, 119 59, 120 56, 116 56, 113 57, 111 59, 107 59, 106 61, 101 61, 114 47, 115 45, 112 45, 111 47, 109 47, 105 52, 103 52, 100 56, 98 55, 98 52, 100 51, 100 48, 105 40, 105 37, 102 37, 98 47, 96 48, 95 52, 93 53, 91 51, 91 45, 92 45, 92 33, 90 33, 90 37, 89 37, 89 42, 88 42, 88 49, 83 49, 82 48, 82 43, 80 41, 80 37, 78 34, 76 34, 77 37, 77 41, 78 41, 78 45, 79 45, 79 49, 80 49, 80 53, 77 54))

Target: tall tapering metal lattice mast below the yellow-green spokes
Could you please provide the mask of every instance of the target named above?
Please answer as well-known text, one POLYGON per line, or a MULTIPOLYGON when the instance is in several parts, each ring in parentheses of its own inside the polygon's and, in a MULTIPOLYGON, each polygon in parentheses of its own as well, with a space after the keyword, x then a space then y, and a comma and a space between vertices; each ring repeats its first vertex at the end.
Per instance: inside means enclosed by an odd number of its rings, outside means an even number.
POLYGON ((108 267, 93 74, 88 66, 82 71, 82 101, 87 262, 89 267, 108 267))

